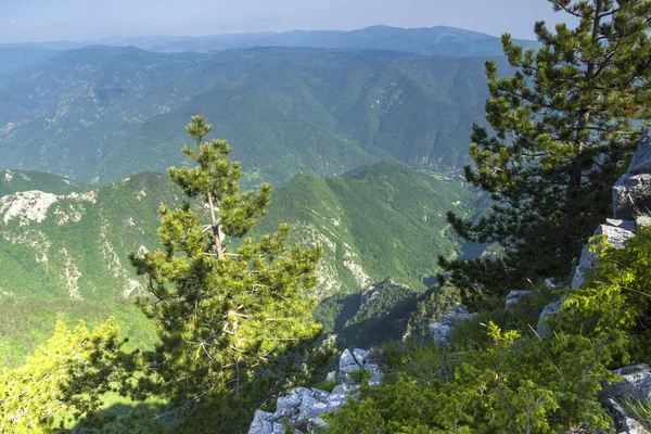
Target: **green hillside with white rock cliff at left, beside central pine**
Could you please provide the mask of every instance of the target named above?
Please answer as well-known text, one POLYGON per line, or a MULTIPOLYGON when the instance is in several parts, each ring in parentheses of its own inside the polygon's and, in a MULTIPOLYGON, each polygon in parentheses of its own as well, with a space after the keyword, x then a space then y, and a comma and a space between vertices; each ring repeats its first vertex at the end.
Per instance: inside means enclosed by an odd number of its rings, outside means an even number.
MULTIPOLYGON (((13 179, 23 175, 41 176, 13 179)), ((158 204, 175 203, 176 191, 159 174, 79 191, 18 187, 0 197, 0 296, 91 301, 138 291, 127 255, 157 245, 158 204)))

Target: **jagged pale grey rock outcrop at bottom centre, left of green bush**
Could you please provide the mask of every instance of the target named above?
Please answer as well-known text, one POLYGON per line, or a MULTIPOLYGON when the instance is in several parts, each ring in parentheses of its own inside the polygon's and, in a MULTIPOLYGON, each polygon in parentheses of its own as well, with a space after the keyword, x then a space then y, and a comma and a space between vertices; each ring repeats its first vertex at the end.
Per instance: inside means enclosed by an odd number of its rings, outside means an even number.
POLYGON ((332 392, 319 388, 297 387, 286 396, 278 398, 276 411, 257 410, 248 429, 248 434, 304 433, 326 426, 321 416, 339 410, 349 397, 356 397, 359 382, 355 373, 369 372, 370 385, 380 384, 382 372, 373 363, 368 352, 359 348, 350 353, 345 349, 339 360, 339 373, 328 374, 328 381, 335 381, 332 392))

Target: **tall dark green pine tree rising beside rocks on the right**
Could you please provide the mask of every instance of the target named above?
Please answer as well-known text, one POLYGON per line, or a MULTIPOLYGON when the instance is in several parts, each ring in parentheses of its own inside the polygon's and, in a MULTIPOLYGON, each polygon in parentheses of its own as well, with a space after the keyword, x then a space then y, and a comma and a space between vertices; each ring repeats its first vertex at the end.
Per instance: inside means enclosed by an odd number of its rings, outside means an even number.
POLYGON ((536 23, 537 50, 503 35, 511 77, 486 63, 492 131, 473 127, 474 167, 465 177, 494 204, 476 221, 452 213, 448 220, 465 240, 496 242, 503 254, 439 258, 471 303, 498 299, 527 280, 569 276, 610 213, 611 187, 635 150, 639 120, 651 116, 651 1, 549 1, 577 27, 559 24, 552 33, 536 23))

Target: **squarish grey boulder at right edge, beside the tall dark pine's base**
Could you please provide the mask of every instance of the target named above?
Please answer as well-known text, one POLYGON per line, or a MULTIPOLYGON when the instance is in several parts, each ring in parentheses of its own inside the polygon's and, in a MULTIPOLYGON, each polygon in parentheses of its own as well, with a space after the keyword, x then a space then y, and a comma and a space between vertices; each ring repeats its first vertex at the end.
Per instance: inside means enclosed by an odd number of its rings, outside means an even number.
POLYGON ((613 215, 631 219, 651 209, 651 174, 625 174, 613 187, 613 215))

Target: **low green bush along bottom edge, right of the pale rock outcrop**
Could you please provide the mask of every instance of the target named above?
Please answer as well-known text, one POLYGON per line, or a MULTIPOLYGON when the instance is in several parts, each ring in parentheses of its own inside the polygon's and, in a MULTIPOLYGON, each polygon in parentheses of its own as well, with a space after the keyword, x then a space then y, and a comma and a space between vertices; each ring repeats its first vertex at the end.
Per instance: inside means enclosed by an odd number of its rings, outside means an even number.
POLYGON ((469 352, 434 344, 388 347, 386 380, 329 417, 332 433, 560 433, 608 427, 597 401, 608 371, 580 336, 521 340, 488 326, 489 343, 469 352))

